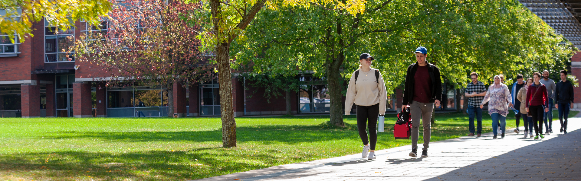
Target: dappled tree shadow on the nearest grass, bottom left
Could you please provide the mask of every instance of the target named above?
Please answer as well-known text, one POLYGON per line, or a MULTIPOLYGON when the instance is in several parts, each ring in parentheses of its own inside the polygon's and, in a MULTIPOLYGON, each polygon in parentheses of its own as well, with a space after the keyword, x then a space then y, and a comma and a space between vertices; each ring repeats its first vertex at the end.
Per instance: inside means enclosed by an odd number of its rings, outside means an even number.
POLYGON ((217 148, 114 154, 87 151, 15 153, 0 155, 0 180, 3 180, 2 175, 34 180, 192 180, 278 165, 280 159, 269 151, 237 159, 241 154, 245 153, 217 148), (219 160, 217 157, 234 159, 219 160), (115 162, 122 164, 110 164, 115 162))

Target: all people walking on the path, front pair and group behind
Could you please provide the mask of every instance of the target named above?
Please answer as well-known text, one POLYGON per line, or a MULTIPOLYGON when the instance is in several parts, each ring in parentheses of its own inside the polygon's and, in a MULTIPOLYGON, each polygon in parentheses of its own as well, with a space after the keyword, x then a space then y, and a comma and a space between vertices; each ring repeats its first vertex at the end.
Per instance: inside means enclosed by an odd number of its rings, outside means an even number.
MULTIPOLYGON (((403 100, 401 109, 409 109, 412 120, 411 127, 411 152, 410 157, 417 157, 419 120, 421 118, 424 128, 424 148, 421 157, 428 157, 428 148, 432 133, 431 118, 435 107, 440 106, 442 99, 442 80, 440 70, 435 65, 428 63, 428 50, 423 46, 418 47, 414 54, 416 63, 407 67, 406 82, 404 84, 403 100)), ((385 114, 387 91, 385 82, 379 70, 371 68, 374 57, 369 53, 363 53, 359 57, 361 66, 354 71, 349 81, 345 100, 345 115, 350 115, 353 104, 357 106, 357 129, 363 151, 361 157, 373 160, 376 158, 375 144, 377 143, 376 125, 378 116, 385 114), (369 131, 369 135, 367 134, 369 131), (369 137, 369 139, 368 139, 369 137)), ((493 120, 494 139, 501 133, 504 138, 506 117, 510 109, 517 114, 517 129, 522 116, 525 124, 525 137, 529 134, 532 137, 533 126, 535 128, 535 139, 542 139, 543 118, 548 133, 552 133, 552 104, 555 99, 555 107, 559 109, 559 119, 561 120, 561 132, 566 133, 566 124, 569 114, 569 107, 573 103, 573 85, 566 80, 566 71, 561 71, 561 81, 555 82, 548 79, 548 71, 533 74, 523 82, 522 75, 517 76, 517 82, 512 86, 512 93, 508 86, 503 84, 504 75, 495 75, 492 85, 486 88, 485 84, 478 81, 478 74, 472 73, 472 82, 465 89, 465 96, 468 99, 469 114, 469 135, 480 136, 482 134, 482 108, 488 103, 488 113, 493 120), (552 81, 552 84, 551 84, 552 81), (514 104, 514 105, 513 105, 514 104), (474 118, 476 117, 478 129, 474 129, 474 118), (548 118, 548 123, 547 123, 548 118), (564 122, 563 122, 564 118, 564 122), (537 122, 539 122, 537 124, 537 122)))

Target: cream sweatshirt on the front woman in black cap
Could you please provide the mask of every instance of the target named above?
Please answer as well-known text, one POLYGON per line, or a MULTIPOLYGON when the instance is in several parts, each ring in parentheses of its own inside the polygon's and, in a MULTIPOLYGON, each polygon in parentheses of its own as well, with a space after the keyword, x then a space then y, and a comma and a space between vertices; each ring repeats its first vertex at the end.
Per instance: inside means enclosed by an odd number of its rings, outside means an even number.
POLYGON ((379 114, 385 114, 388 92, 385 90, 385 82, 383 82, 381 73, 379 73, 379 84, 375 82, 374 71, 377 71, 377 69, 371 68, 367 73, 359 71, 357 84, 355 82, 355 72, 351 75, 345 98, 345 115, 351 114, 353 103, 357 106, 373 106, 379 103, 379 114))

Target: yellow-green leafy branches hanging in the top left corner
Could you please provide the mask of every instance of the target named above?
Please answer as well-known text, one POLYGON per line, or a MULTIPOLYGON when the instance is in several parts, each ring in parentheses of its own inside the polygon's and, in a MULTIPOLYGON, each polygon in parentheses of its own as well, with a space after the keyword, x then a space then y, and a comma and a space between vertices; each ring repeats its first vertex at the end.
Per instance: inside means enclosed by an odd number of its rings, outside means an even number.
POLYGON ((49 26, 66 30, 76 20, 85 20, 89 25, 99 24, 112 8, 108 0, 2 0, 0 1, 0 32, 13 40, 17 35, 34 36, 33 22, 46 19, 49 26))

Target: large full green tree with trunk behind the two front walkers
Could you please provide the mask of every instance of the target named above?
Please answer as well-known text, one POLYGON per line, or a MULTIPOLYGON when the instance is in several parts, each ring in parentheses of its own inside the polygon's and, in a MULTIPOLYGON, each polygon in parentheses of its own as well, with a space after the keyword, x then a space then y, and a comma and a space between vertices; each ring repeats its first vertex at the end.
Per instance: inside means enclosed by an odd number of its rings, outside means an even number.
POLYGON ((312 70, 325 77, 331 123, 341 126, 340 82, 359 67, 361 53, 375 57, 388 93, 403 83, 418 46, 459 85, 471 71, 492 77, 572 55, 572 46, 560 45, 570 43, 518 1, 375 0, 365 7, 356 16, 332 6, 265 10, 246 31, 248 41, 235 46, 236 60, 256 65, 255 73, 312 70))

